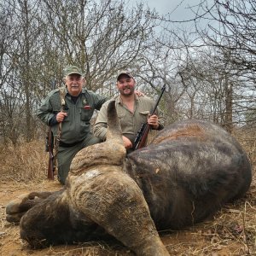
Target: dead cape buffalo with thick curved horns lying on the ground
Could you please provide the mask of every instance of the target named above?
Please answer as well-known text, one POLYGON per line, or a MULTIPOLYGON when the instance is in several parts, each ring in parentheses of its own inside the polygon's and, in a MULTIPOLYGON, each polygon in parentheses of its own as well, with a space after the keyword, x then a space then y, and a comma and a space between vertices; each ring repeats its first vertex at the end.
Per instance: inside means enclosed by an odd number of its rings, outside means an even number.
POLYGON ((32 247, 110 235, 137 255, 169 255, 157 230, 211 216, 245 194, 251 171, 236 139, 200 120, 172 124, 125 157, 110 103, 107 141, 75 156, 61 191, 11 201, 7 220, 20 221, 20 237, 32 247))

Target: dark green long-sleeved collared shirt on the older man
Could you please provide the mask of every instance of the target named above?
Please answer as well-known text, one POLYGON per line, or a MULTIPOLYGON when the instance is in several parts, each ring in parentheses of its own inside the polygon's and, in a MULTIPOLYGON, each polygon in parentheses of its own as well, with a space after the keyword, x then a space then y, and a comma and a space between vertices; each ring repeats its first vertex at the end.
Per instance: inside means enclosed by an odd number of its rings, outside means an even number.
MULTIPOLYGON (((83 88, 76 102, 67 92, 65 95, 64 111, 67 117, 61 123, 61 142, 76 143, 82 141, 90 132, 90 119, 94 110, 99 110, 102 104, 108 100, 107 97, 99 96, 96 93, 83 88)), ((60 90, 52 90, 38 108, 37 115, 45 125, 52 125, 54 136, 58 135, 59 123, 51 122, 57 113, 61 111, 60 90)))

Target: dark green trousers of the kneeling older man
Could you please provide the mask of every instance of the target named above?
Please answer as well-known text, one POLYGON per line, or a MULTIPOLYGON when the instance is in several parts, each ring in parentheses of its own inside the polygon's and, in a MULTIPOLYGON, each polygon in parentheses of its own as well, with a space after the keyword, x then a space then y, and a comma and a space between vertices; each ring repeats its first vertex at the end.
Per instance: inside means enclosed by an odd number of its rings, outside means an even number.
MULTIPOLYGON (((59 147, 57 157, 57 165, 58 165, 58 180, 61 184, 65 184, 67 175, 69 172, 69 168, 73 157, 77 154, 82 148, 86 148, 90 145, 101 143, 101 139, 98 137, 94 137, 91 133, 88 134, 84 140, 73 147, 59 147)), ((86 157, 86 155, 84 155, 86 157)))

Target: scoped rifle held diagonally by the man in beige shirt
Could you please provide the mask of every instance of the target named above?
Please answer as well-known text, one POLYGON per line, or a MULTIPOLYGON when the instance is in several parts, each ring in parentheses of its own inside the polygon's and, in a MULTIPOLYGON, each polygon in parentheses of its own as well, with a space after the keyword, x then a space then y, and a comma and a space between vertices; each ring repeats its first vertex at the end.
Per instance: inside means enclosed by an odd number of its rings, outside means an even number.
MULTIPOLYGON (((160 102, 161 97, 163 96, 164 91, 166 90, 166 84, 161 89, 160 95, 158 96, 157 101, 154 104, 154 108, 152 109, 150 115, 154 114, 156 111, 156 108, 160 102)), ((151 129, 151 125, 148 125, 148 122, 144 123, 141 127, 141 129, 137 132, 137 137, 134 140, 134 146, 133 149, 138 149, 138 148, 143 148, 145 147, 147 137, 148 137, 148 132, 151 129)))

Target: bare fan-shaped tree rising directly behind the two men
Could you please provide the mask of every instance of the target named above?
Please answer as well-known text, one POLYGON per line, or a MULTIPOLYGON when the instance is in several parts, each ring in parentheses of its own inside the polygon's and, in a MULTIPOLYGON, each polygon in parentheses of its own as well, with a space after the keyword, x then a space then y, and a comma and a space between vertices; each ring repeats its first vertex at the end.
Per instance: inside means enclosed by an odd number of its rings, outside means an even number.
POLYGON ((90 90, 102 89, 118 70, 134 65, 155 26, 150 15, 144 15, 142 4, 129 9, 113 0, 44 0, 44 5, 55 44, 66 56, 66 64, 83 67, 90 90))

